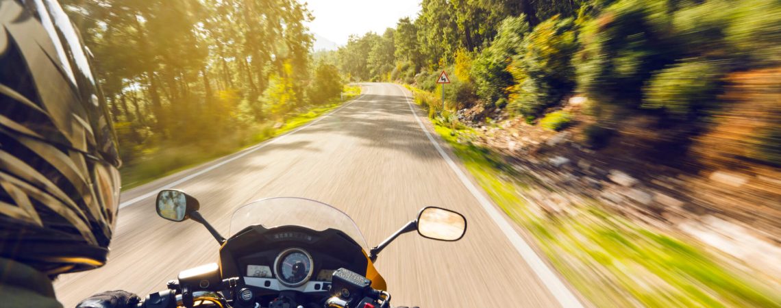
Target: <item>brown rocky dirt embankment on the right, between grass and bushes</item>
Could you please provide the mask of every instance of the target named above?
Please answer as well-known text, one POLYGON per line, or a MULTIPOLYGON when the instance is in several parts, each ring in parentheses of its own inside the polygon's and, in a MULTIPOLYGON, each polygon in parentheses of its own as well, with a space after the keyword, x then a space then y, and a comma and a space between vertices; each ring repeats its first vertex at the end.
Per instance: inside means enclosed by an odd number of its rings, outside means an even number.
MULTIPOLYGON (((729 104, 704 127, 615 115, 598 123, 611 129, 607 145, 595 149, 585 130, 597 121, 585 97, 572 97, 562 107, 574 115, 569 128, 555 132, 522 119, 480 122, 473 142, 531 175, 540 189, 530 199, 547 214, 596 201, 781 278, 781 69, 735 73, 727 81, 722 98, 729 104)), ((469 122, 486 112, 458 115, 469 122)))

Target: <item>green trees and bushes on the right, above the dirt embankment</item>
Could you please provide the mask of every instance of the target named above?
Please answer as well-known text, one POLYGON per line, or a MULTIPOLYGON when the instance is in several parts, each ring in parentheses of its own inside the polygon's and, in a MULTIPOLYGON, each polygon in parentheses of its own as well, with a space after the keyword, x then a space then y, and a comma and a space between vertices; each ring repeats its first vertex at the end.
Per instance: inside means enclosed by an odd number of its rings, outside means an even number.
POLYGON ((730 104, 720 98, 730 73, 781 65, 776 0, 420 5, 418 16, 399 19, 382 36, 351 37, 334 52, 337 66, 353 80, 414 83, 437 95, 438 74, 455 72, 448 106, 504 109, 530 123, 580 94, 604 127, 629 113, 697 132, 730 104))

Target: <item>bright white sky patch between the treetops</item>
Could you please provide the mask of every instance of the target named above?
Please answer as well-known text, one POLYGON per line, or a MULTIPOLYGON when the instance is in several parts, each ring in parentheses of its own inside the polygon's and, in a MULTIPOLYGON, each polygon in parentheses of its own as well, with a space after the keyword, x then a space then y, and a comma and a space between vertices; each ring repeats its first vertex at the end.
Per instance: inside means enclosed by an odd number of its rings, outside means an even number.
POLYGON ((309 30, 339 45, 347 44, 350 34, 363 35, 385 32, 396 27, 398 19, 415 19, 420 0, 300 0, 307 2, 315 20, 309 30))

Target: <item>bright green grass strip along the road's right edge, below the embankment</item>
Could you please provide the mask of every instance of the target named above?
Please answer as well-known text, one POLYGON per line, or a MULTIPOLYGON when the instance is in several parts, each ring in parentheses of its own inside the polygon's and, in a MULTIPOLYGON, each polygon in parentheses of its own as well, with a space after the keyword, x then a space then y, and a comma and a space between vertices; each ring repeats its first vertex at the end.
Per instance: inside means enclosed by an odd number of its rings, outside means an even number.
POLYGON ((612 214, 596 200, 547 216, 523 197, 535 179, 470 143, 473 129, 454 126, 446 115, 432 118, 491 199, 530 231, 558 272, 596 306, 781 307, 779 292, 761 278, 719 261, 696 242, 612 214))

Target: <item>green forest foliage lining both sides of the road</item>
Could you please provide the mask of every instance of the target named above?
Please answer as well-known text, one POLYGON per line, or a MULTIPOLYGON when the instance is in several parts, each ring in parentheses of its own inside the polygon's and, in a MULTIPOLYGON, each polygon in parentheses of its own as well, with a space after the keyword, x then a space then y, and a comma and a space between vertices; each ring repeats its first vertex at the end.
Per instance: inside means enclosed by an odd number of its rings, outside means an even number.
POLYGON ((726 76, 781 65, 777 0, 422 0, 396 27, 314 54, 313 16, 295 0, 62 3, 94 55, 126 165, 164 147, 244 146, 253 138, 235 132, 325 104, 337 83, 439 96, 442 70, 453 109, 539 123, 581 94, 608 129, 629 112, 697 132, 729 104, 726 76))

